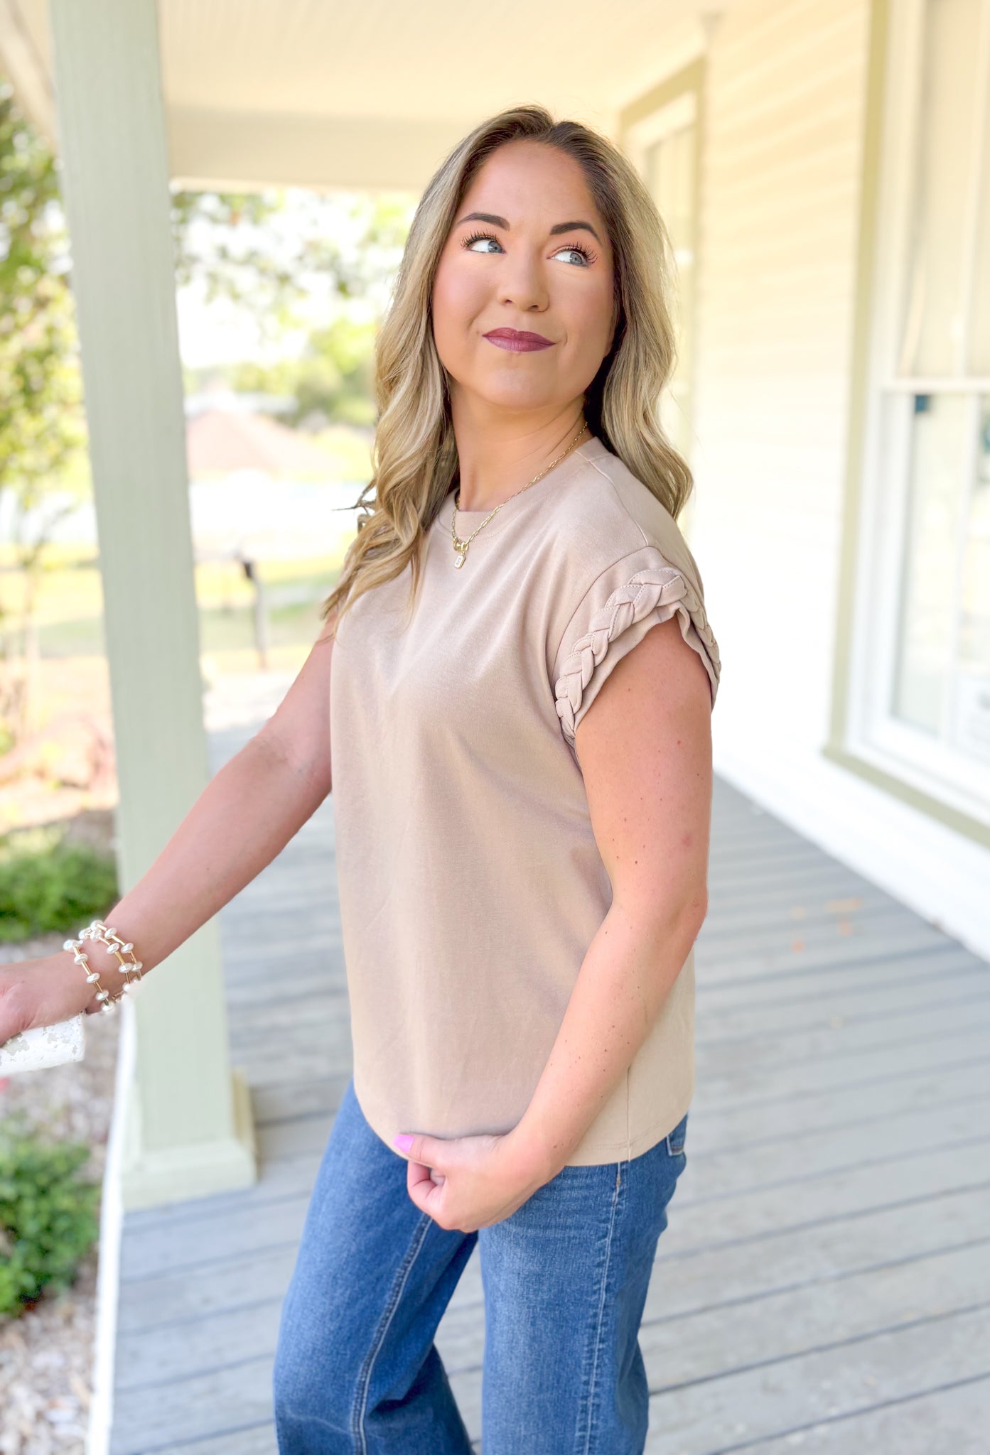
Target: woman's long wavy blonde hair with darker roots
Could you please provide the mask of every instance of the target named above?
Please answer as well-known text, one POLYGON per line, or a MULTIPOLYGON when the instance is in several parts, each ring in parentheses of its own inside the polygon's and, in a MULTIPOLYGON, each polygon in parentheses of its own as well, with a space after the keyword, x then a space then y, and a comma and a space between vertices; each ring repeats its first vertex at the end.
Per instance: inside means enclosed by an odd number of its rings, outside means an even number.
POLYGON ((667 228, 639 173, 606 137, 543 106, 514 106, 483 121, 441 163, 409 228, 392 301, 376 340, 377 426, 373 476, 357 501, 364 514, 320 615, 338 623, 365 591, 412 563, 409 607, 422 572, 427 531, 457 483, 457 444, 447 371, 432 335, 432 285, 457 210, 479 169, 510 141, 540 141, 579 163, 609 231, 617 324, 588 386, 585 419, 677 518, 693 479, 658 419, 677 351, 668 310, 674 276, 667 228), (368 499, 370 498, 370 499, 368 499))

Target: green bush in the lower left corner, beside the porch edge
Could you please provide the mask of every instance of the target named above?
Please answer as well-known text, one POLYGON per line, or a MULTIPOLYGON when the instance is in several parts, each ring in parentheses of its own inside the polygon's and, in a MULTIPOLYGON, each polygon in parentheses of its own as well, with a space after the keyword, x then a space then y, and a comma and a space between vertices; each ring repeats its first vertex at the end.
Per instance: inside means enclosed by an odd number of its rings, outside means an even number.
POLYGON ((45 1285, 71 1285, 99 1235, 99 1183, 76 1174, 83 1142, 42 1142, 0 1128, 0 1317, 22 1314, 45 1285))

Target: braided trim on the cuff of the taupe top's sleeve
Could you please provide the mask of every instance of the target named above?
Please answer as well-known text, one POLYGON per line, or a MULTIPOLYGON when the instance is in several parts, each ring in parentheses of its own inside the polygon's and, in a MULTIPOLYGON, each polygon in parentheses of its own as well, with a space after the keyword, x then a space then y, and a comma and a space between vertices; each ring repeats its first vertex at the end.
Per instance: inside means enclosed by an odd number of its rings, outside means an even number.
POLYGON ((611 592, 561 665, 561 675, 555 684, 556 711, 571 746, 577 728, 575 717, 581 711, 581 701, 595 668, 606 658, 611 642, 651 613, 655 615, 651 626, 667 621, 674 613, 678 614, 681 636, 694 647, 708 669, 712 706, 715 706, 721 662, 705 607, 676 566, 651 566, 638 570, 623 586, 611 592))

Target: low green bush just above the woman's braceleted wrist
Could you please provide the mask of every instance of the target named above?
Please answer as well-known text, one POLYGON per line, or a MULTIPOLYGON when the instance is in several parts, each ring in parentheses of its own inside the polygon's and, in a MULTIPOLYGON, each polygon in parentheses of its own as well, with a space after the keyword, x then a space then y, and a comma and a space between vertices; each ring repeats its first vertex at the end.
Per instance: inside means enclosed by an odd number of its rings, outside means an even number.
POLYGON ((66 829, 17 829, 0 838, 0 941, 50 930, 74 933, 116 899, 116 863, 66 829))

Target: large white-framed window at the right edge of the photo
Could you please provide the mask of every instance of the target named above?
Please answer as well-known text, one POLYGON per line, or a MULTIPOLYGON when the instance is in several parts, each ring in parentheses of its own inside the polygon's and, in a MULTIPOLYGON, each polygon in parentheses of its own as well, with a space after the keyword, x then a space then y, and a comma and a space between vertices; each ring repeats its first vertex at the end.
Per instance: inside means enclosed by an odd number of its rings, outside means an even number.
POLYGON ((990 0, 891 7, 849 744, 990 822, 990 0))

